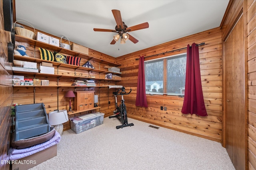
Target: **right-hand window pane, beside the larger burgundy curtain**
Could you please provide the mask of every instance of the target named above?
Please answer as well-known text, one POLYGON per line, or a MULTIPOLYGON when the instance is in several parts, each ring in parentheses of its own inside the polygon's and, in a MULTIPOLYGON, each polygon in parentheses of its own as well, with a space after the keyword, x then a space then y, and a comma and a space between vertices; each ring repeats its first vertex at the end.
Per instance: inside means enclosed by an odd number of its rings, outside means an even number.
POLYGON ((186 54, 167 59, 167 94, 184 94, 185 79, 186 54))

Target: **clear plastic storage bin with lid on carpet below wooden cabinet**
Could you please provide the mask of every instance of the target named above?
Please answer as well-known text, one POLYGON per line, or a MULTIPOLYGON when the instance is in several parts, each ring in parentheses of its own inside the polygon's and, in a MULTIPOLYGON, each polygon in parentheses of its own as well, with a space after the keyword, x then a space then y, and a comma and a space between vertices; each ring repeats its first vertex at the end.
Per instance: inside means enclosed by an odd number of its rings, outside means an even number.
POLYGON ((70 117, 69 119, 72 131, 77 134, 95 126, 102 125, 104 113, 90 113, 82 116, 70 117))

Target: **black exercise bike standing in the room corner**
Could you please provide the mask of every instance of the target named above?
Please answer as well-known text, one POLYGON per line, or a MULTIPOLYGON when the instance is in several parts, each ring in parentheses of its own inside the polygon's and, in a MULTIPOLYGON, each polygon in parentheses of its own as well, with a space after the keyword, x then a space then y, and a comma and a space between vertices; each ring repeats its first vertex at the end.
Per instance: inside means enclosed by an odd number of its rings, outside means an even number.
MULTIPOLYGON (((130 89, 130 92, 132 92, 132 89, 130 89)), ((124 104, 124 95, 130 94, 130 92, 126 94, 124 87, 122 87, 121 89, 118 89, 117 92, 113 92, 113 95, 115 96, 115 99, 116 99, 116 110, 114 111, 114 116, 110 116, 108 118, 117 117, 120 120, 122 125, 116 126, 116 129, 134 125, 133 123, 128 123, 127 114, 126 114, 126 106, 124 104), (118 92, 120 90, 121 90, 121 92, 118 94, 118 92), (117 96, 118 95, 122 95, 121 104, 119 106, 117 105, 117 96)))

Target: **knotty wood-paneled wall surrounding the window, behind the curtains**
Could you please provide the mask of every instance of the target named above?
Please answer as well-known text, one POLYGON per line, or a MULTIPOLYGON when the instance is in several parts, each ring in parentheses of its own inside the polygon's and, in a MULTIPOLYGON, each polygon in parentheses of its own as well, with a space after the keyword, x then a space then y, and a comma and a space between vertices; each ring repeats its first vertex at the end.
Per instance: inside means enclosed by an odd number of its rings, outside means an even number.
MULTIPOLYGON (((179 53, 185 50, 145 58, 146 60, 160 58, 179 53)), ((170 41, 142 51, 118 57, 117 61, 123 63, 121 66, 122 81, 118 84, 132 88, 132 93, 125 96, 128 117, 140 121, 167 127, 191 135, 220 142, 222 139, 222 40, 221 29, 215 28, 202 33, 170 41), (138 81, 139 56, 150 56, 165 53, 175 49, 187 47, 192 43, 205 43, 199 47, 200 72, 204 102, 208 113, 207 117, 185 115, 181 113, 183 98, 166 95, 147 95, 148 107, 136 107, 136 92, 138 81), (167 111, 160 109, 167 107, 167 111)))

